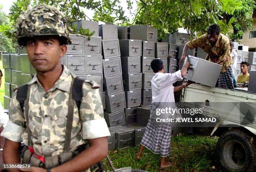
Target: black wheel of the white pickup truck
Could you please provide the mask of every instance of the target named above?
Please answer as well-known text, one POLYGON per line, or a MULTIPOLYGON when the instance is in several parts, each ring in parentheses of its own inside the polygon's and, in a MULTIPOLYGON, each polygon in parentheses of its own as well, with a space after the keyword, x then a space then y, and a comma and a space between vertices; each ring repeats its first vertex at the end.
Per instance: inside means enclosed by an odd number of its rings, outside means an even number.
POLYGON ((238 129, 223 133, 217 142, 220 164, 225 171, 254 172, 256 144, 245 132, 238 129))

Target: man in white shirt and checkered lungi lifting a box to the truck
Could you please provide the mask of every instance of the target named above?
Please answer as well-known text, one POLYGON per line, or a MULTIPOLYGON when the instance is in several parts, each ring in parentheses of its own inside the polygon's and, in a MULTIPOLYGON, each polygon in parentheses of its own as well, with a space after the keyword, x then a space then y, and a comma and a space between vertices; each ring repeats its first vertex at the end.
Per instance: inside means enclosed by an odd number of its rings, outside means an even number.
MULTIPOLYGON (((151 68, 155 72, 155 76, 151 80, 152 85, 152 103, 153 102, 175 102, 174 92, 182 90, 192 82, 187 82, 178 87, 173 87, 172 84, 178 80, 182 80, 187 73, 189 62, 174 73, 164 73, 164 65, 162 60, 154 59, 151 62, 151 68)), ((139 160, 142 155, 144 147, 151 150, 153 153, 161 156, 160 167, 166 168, 171 165, 166 162, 166 157, 171 154, 171 133, 172 127, 170 125, 156 125, 153 118, 149 118, 146 126, 146 132, 141 139, 141 147, 137 155, 139 160)))

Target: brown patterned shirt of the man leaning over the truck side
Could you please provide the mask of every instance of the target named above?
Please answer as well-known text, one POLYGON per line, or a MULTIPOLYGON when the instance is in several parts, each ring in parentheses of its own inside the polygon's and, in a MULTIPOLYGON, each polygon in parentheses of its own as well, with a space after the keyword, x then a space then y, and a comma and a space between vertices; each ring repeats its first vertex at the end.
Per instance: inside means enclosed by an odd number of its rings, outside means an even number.
POLYGON ((221 60, 220 65, 223 65, 221 72, 225 72, 228 70, 228 67, 232 66, 232 58, 229 52, 230 42, 228 37, 221 33, 218 36, 218 40, 214 47, 212 47, 211 43, 209 42, 207 33, 200 36, 199 38, 189 41, 187 45, 190 49, 200 47, 205 52, 207 52, 208 55, 205 60, 209 60, 209 58, 211 62, 217 62, 218 60, 221 60))

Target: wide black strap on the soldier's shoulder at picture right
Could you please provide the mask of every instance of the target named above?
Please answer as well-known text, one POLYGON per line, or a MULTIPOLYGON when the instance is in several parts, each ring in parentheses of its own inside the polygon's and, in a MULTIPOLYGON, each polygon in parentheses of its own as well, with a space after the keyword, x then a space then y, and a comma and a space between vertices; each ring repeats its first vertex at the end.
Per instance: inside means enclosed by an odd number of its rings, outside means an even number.
MULTIPOLYGON (((72 87, 72 98, 76 101, 78 112, 80 110, 81 100, 83 97, 82 87, 83 87, 84 80, 85 79, 81 77, 75 77, 73 87, 72 87)), ((80 112, 79 112, 79 116, 80 116, 80 112)))

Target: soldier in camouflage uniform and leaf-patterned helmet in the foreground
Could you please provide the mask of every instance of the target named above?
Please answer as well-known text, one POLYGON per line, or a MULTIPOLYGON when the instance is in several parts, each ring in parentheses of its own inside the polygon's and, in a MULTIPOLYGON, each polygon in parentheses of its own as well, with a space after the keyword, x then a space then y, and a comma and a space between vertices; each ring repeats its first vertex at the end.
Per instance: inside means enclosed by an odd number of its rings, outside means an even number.
POLYGON ((6 138, 4 162, 20 163, 19 147, 24 142, 21 158, 33 167, 22 171, 88 169, 106 157, 110 133, 96 82, 82 82, 79 107, 72 99, 75 76, 61 65, 66 45, 71 43, 66 17, 55 7, 41 4, 20 15, 16 30, 18 44, 26 47, 36 75, 27 83, 23 109, 19 92, 10 102, 10 120, 1 134, 6 138), (90 146, 85 149, 84 145, 90 146))

